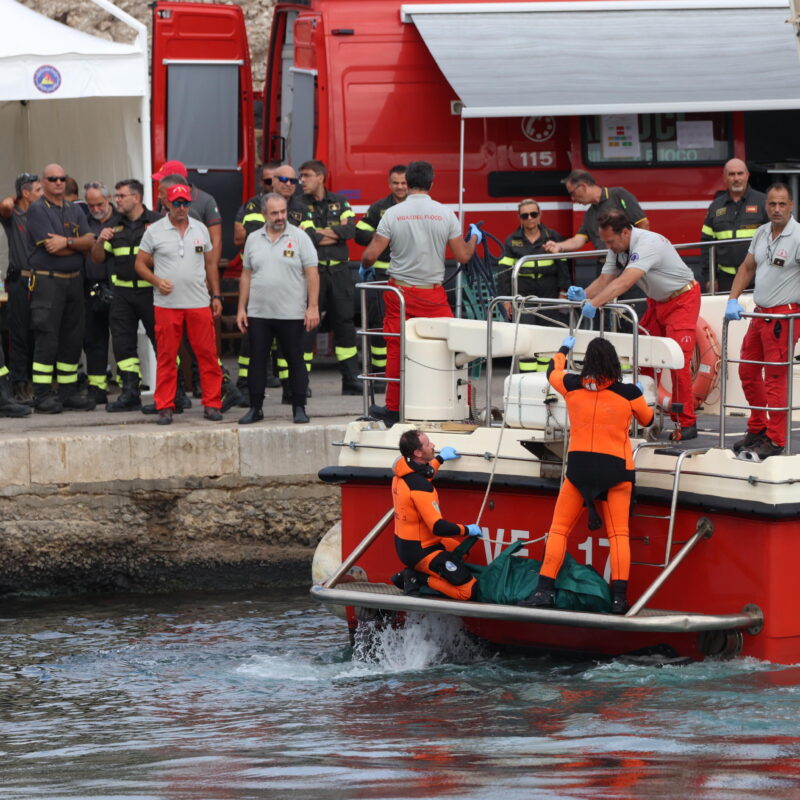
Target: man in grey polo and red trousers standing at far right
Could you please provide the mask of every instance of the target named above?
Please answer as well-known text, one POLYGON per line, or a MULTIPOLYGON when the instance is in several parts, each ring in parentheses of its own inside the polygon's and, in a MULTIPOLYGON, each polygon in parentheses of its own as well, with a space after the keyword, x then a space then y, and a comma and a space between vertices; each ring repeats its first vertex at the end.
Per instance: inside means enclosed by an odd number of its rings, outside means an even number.
MULTIPOLYGON (((738 298, 753 276, 753 300, 757 313, 800 312, 800 224, 792 217, 794 203, 789 187, 773 183, 767 189, 766 207, 770 221, 753 236, 750 250, 731 287, 725 309, 725 317, 729 320, 741 319, 744 309, 738 298)), ((783 453, 786 412, 765 409, 789 405, 786 384, 792 374, 791 361, 800 335, 800 319, 794 320, 792 334, 790 347, 789 320, 786 318, 753 317, 750 320, 742 340, 739 379, 748 405, 754 407, 750 409, 747 435, 733 445, 736 453, 748 450, 761 460, 783 453)))

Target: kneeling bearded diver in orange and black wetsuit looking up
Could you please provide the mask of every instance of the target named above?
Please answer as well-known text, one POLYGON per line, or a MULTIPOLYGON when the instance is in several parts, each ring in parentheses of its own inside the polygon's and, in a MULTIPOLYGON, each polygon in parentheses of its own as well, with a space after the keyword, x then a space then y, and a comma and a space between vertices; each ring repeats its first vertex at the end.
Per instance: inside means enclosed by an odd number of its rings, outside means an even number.
POLYGON ((461 558, 452 553, 463 536, 482 536, 479 525, 458 525, 442 518, 433 478, 445 462, 459 458, 452 447, 437 456, 427 434, 406 431, 400 437, 400 458, 394 464, 395 547, 407 569, 398 573, 406 594, 429 586, 454 600, 470 600, 478 585, 461 558))

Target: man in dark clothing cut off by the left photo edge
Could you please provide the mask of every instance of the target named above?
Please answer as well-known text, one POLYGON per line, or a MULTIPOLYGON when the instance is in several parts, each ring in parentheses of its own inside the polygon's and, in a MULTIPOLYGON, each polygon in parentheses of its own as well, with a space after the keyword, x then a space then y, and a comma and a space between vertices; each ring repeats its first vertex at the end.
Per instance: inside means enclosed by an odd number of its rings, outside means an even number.
POLYGON ((8 335, 11 353, 8 368, 14 385, 14 398, 18 403, 33 404, 30 388, 31 362, 33 361, 33 331, 31 330, 31 304, 28 298, 28 281, 22 270, 28 267, 33 247, 28 239, 28 209, 42 196, 42 182, 38 175, 23 172, 14 181, 14 197, 0 202, 0 223, 8 238, 8 335))

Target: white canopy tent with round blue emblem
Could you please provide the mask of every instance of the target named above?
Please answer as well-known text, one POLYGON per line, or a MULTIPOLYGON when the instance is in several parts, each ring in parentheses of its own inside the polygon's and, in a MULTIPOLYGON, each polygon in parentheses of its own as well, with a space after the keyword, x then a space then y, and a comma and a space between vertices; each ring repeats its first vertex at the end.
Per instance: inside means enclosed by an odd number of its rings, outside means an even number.
POLYGON ((147 183, 150 96, 147 29, 92 0, 137 32, 134 44, 82 33, 0 0, 0 196, 20 172, 61 164, 79 184, 147 183))

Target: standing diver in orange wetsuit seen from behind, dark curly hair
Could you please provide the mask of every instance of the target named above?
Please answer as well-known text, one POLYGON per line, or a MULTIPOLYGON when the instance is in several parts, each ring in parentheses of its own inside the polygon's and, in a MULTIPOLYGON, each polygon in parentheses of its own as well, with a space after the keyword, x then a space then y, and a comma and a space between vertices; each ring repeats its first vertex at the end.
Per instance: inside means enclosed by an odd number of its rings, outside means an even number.
POLYGON ((567 475, 556 500, 538 586, 520 605, 553 605, 555 579, 564 563, 569 534, 584 505, 589 511, 590 530, 601 526, 594 507, 594 501, 600 500, 611 547, 611 613, 624 614, 628 610, 628 516, 634 480, 628 430, 634 416, 641 425, 652 425, 653 411, 640 385, 622 383, 614 345, 606 339, 593 339, 586 348, 580 375, 565 369, 567 354, 574 345, 574 337, 564 339, 547 368, 547 379, 564 396, 569 411, 567 475))

